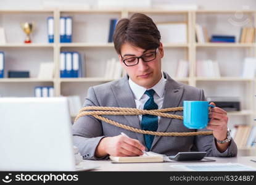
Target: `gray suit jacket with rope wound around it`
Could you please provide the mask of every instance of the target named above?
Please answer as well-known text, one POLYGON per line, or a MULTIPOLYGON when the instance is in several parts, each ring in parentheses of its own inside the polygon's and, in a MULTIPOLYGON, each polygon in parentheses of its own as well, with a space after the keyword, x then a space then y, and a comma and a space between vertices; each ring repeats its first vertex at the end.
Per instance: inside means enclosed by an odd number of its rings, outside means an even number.
MULTIPOLYGON (((167 73, 165 84, 163 107, 182 107, 183 101, 204 101, 204 91, 186 84, 181 84, 173 80, 167 73)), ((102 106, 102 107, 131 107, 136 108, 134 95, 128 83, 126 75, 120 80, 93 86, 88 89, 88 95, 83 105, 102 106)), ((170 112, 176 115, 183 115, 182 111, 170 112)), ((104 115, 110 120, 123 123, 134 128, 141 129, 138 115, 104 115)), ((97 120, 91 116, 81 117, 72 126, 73 142, 78 147, 80 154, 85 159, 99 159, 94 156, 97 145, 102 138, 117 136, 121 132, 130 138, 138 139, 145 146, 143 134, 118 128, 104 121, 97 120)), ((203 129, 205 130, 205 129, 203 129)), ((160 118, 157 131, 161 132, 191 132, 183 125, 183 120, 170 118, 160 118)), ((189 136, 189 137, 160 137, 155 136, 151 147, 152 152, 159 154, 175 155, 177 152, 205 151, 207 156, 233 157, 237 155, 237 147, 234 140, 231 140, 228 150, 220 153, 212 135, 209 136, 189 136)), ((106 159, 108 156, 101 159, 106 159)))

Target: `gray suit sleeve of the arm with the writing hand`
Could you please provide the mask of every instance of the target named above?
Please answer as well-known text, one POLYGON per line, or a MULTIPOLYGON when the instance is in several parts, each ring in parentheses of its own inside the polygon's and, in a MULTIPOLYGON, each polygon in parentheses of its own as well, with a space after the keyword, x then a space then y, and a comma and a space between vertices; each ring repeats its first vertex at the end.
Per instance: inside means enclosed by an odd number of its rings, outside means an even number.
MULTIPOLYGON (((85 99, 83 107, 99 106, 93 87, 88 89, 88 96, 85 99)), ((72 126, 73 144, 78 147, 80 154, 84 159, 106 159, 95 157, 95 150, 102 138, 101 121, 91 115, 80 117, 72 126)))

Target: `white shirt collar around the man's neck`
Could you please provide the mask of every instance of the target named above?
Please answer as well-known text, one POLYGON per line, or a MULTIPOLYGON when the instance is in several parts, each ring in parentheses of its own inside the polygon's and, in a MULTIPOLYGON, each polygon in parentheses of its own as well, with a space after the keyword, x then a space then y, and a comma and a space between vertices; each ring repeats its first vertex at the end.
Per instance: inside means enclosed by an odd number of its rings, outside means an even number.
MULTIPOLYGON (((162 72, 162 78, 159 80, 157 84, 155 84, 150 89, 154 89, 154 91, 157 93, 159 97, 163 97, 165 83, 166 83, 166 79, 163 77, 163 72, 162 72)), ((131 78, 129 78, 129 84, 130 84, 131 91, 133 91, 135 99, 137 100, 141 99, 141 97, 143 96, 143 94, 147 89, 134 83, 134 81, 132 81, 131 78)))

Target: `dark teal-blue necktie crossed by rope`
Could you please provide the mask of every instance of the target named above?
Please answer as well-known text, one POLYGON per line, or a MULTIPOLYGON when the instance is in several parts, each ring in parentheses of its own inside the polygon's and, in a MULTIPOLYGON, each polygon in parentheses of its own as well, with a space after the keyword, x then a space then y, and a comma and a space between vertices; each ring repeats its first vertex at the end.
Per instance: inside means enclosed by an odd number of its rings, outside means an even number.
MULTIPOLYGON (((155 104, 155 102, 154 102, 155 91, 153 89, 150 89, 150 90, 147 90, 145 92, 145 94, 147 94, 147 96, 149 96, 149 99, 145 103, 143 109, 144 110, 158 109, 158 105, 155 104)), ((141 119, 142 130, 157 131, 157 127, 158 127, 157 116, 148 115, 148 114, 142 115, 142 119, 141 119)), ((154 140, 153 135, 144 134, 144 141, 145 141, 145 144, 146 144, 146 147, 148 150, 151 149, 153 140, 154 140)))

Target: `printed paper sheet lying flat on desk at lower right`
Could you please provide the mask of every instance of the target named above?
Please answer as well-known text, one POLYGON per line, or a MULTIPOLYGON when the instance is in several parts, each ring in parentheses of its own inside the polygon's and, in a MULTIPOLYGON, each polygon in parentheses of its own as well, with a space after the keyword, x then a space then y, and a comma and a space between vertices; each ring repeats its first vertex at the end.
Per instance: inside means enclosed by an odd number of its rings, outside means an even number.
POLYGON ((192 164, 192 165, 170 165, 173 168, 182 168, 186 171, 256 171, 252 168, 239 163, 214 163, 214 164, 192 164))

